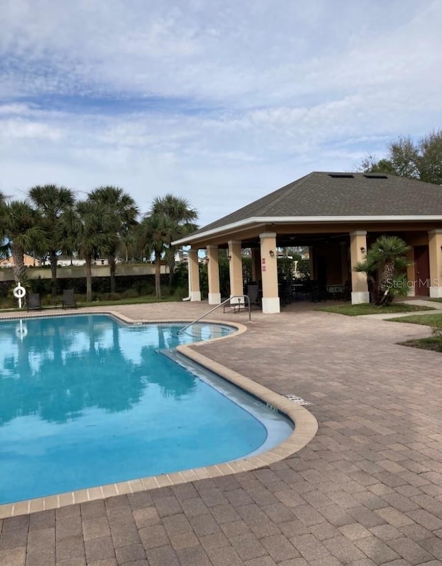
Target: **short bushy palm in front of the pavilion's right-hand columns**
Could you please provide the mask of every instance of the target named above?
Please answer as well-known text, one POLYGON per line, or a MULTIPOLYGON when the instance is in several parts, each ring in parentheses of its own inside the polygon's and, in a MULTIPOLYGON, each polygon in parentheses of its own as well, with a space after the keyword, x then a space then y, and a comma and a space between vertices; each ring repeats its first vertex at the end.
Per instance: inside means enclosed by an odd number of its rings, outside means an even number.
POLYGON ((380 273, 376 304, 390 304, 395 295, 406 293, 403 283, 410 262, 405 254, 409 250, 410 246, 400 237, 383 235, 370 246, 364 261, 354 267, 354 271, 366 273, 372 284, 375 283, 376 272, 380 273))

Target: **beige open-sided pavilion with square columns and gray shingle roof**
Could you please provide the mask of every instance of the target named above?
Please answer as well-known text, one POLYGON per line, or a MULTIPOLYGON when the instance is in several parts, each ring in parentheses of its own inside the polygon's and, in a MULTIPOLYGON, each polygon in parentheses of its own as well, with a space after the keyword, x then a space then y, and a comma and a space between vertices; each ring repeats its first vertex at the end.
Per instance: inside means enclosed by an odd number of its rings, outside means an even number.
POLYGON ((262 311, 278 313, 277 250, 308 246, 311 278, 351 286, 352 303, 369 302, 367 279, 353 266, 380 235, 411 246, 410 295, 442 297, 442 188, 381 173, 310 173, 174 244, 191 246, 189 290, 201 300, 198 250, 208 257, 209 304, 219 304, 218 251, 227 249, 232 295, 242 295, 242 248, 252 250, 262 311))

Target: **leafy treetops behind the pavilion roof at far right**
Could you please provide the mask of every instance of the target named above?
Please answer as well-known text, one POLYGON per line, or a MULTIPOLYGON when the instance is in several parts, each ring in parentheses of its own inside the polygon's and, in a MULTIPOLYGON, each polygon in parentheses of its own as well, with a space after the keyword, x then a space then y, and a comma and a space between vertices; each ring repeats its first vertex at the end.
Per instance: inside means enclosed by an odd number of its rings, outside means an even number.
POLYGON ((369 154, 358 170, 364 173, 390 173, 427 183, 442 184, 442 128, 414 143, 399 137, 387 145, 387 155, 377 160, 369 154))

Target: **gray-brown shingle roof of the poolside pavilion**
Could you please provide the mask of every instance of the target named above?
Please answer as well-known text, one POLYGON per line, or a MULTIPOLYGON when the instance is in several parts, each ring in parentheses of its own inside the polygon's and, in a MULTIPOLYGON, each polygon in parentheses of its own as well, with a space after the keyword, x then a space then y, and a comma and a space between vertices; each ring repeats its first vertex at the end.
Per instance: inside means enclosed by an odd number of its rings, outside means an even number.
POLYGON ((441 216, 442 187, 381 173, 309 173, 193 235, 248 218, 441 216))

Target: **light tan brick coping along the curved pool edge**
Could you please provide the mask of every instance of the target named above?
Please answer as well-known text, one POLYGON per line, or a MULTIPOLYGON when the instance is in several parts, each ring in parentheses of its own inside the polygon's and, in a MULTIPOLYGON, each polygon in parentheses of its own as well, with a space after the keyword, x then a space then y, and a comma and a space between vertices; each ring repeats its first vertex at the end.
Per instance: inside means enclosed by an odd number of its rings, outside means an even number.
MULTIPOLYGON (((20 313, 17 312, 10 313, 10 315, 0 315, 0 320, 19 320, 23 318, 41 318, 44 317, 56 317, 56 316, 66 316, 66 315, 88 315, 88 314, 106 314, 111 315, 118 320, 126 324, 155 324, 155 323, 176 323, 176 322, 191 322, 189 320, 151 320, 151 319, 131 319, 126 315, 113 311, 112 309, 94 308, 91 310, 81 310, 72 311, 51 311, 46 313, 20 313)), ((280 442, 279 445, 273 447, 272 449, 262 452, 256 456, 250 456, 249 458, 242 458, 240 460, 234 460, 231 462, 224 462, 222 464, 215 464, 211 466, 205 466, 200 468, 194 468, 184 471, 177 471, 171 474, 160 474, 157 476, 147 476, 145 478, 137 478, 135 480, 128 480, 124 482, 117 482, 108 485, 102 485, 98 487, 90 487, 86 489, 78 489, 76 491, 67 491, 63 494, 57 494, 52 496, 34 498, 30 500, 22 500, 19 502, 5 503, 0 505, 0 519, 16 517, 19 515, 25 515, 30 513, 36 513, 38 511, 46 511, 48 509, 59 509, 59 507, 65 507, 67 505, 75 505, 78 503, 84 503, 87 501, 99 500, 113 496, 119 496, 124 494, 131 494, 137 491, 145 491, 148 489, 156 489, 158 487, 170 487, 173 485, 179 485, 186 482, 192 482, 195 480, 202 480, 205 478, 215 478, 218 476, 229 476, 231 474, 236 474, 241 471, 250 471, 258 469, 260 467, 268 466, 275 462, 279 462, 298 452, 300 449, 305 447, 312 438, 316 435, 318 431, 318 422, 316 418, 307 411, 305 407, 296 404, 286 397, 275 393, 260 385, 250 378, 233 371, 219 362, 215 362, 205 355, 200 353, 198 349, 204 344, 209 344, 217 340, 227 340, 242 334, 247 331, 247 326, 240 324, 238 322, 225 322, 220 320, 205 319, 204 322, 210 324, 222 324, 222 326, 232 326, 236 328, 236 332, 230 335, 221 336, 218 338, 211 338, 210 340, 204 340, 204 342, 193 342, 191 345, 181 345, 176 348, 177 352, 184 355, 189 360, 200 364, 204 369, 213 371, 220 375, 225 380, 236 384, 237 387, 251 393, 251 395, 259 398, 262 402, 265 402, 271 409, 280 411, 285 416, 287 416, 295 424, 294 431, 291 435, 280 442)))

